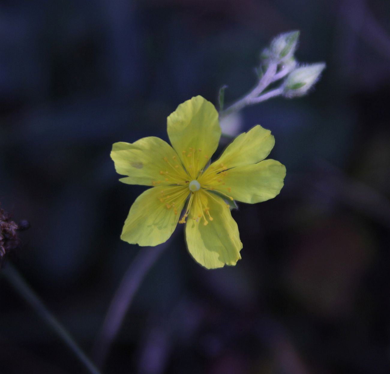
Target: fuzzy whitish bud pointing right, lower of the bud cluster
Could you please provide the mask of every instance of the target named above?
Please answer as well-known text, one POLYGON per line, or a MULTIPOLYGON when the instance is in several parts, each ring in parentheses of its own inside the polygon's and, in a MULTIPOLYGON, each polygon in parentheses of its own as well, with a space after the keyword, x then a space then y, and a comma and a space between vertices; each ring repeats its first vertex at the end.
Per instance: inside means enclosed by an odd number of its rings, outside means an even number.
POLYGON ((307 94, 324 69, 324 62, 294 69, 284 81, 283 96, 291 98, 307 94))

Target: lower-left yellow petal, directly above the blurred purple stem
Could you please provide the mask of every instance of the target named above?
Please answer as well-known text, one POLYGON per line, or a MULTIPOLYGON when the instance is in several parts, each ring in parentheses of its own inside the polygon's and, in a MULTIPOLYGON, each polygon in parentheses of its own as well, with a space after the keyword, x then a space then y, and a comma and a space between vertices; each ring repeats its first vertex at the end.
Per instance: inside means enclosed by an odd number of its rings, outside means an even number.
POLYGON ((179 188, 158 186, 138 196, 124 223, 121 239, 141 246, 154 246, 167 241, 175 230, 188 196, 188 188, 181 187, 183 192, 177 193, 179 188), (175 206, 168 209, 161 197, 174 193, 177 194, 175 206))

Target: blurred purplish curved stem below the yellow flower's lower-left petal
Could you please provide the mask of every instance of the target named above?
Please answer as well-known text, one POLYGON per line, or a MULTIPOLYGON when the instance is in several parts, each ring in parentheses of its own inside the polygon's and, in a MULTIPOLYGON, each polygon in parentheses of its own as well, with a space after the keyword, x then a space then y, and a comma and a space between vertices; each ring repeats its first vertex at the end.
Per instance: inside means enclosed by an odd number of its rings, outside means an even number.
POLYGON ((138 288, 161 253, 168 248, 168 243, 170 240, 155 247, 142 248, 124 274, 108 307, 105 321, 92 350, 92 357, 99 367, 105 362, 110 346, 121 328, 138 288))

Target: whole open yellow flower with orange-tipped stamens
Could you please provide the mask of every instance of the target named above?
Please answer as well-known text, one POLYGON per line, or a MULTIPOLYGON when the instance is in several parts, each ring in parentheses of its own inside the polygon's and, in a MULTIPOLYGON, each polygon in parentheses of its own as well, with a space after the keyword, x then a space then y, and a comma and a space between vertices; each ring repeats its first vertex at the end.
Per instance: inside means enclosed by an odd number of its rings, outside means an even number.
POLYGON ((167 122, 172 147, 154 136, 112 147, 116 171, 128 175, 121 182, 153 186, 131 206, 121 239, 155 246, 168 240, 178 222, 185 223, 188 251, 199 264, 207 269, 235 265, 243 245, 227 202, 254 204, 278 195, 285 167, 264 160, 274 137, 257 125, 207 167, 221 136, 214 105, 193 97, 167 122))

